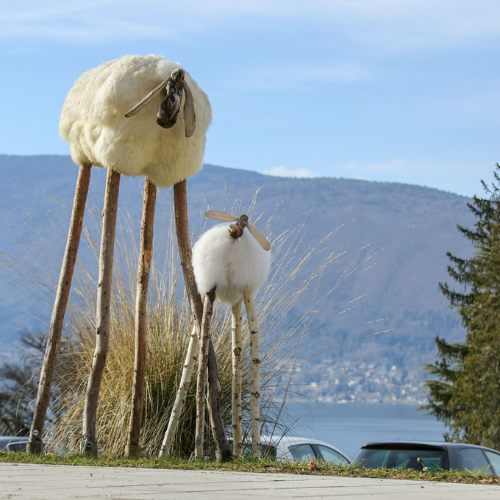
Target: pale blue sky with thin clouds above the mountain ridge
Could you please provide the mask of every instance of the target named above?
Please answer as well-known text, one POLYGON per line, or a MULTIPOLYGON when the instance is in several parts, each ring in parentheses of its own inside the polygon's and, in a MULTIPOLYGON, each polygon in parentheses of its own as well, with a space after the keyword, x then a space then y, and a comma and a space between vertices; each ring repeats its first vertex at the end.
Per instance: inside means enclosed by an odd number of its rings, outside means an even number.
POLYGON ((208 93, 205 161, 481 193, 500 162, 497 0, 1 0, 1 154, 68 154, 61 107, 125 54, 208 93))

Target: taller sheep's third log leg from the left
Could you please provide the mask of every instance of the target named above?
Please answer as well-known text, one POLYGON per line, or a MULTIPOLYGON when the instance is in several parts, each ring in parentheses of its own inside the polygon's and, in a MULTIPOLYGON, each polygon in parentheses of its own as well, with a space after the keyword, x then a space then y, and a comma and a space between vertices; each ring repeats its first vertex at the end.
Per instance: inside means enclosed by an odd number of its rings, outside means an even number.
POLYGON ((125 456, 139 455, 139 437, 141 434, 142 407, 144 399, 144 376, 146 372, 146 330, 147 330, 147 295, 149 270, 153 252, 153 226, 155 218, 156 186, 144 182, 144 199, 141 222, 141 246, 139 251, 139 272, 135 294, 135 361, 134 381, 132 386, 132 412, 130 414, 129 436, 125 456))

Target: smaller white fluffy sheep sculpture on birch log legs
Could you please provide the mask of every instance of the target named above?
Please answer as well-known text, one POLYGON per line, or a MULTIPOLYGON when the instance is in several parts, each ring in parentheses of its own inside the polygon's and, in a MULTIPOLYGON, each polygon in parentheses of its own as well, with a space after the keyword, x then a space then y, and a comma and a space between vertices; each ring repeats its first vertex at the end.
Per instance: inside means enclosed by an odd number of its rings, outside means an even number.
MULTIPOLYGON (((203 457, 205 366, 210 338, 212 307, 217 297, 232 307, 232 418, 233 456, 242 456, 242 329, 241 304, 244 301, 250 330, 250 430, 252 455, 261 456, 260 446, 260 333, 254 295, 266 281, 271 266, 271 246, 248 217, 208 211, 207 217, 231 221, 204 233, 193 248, 193 269, 198 290, 204 296, 202 334, 198 354, 197 427, 195 457, 203 457), (247 229, 247 230, 245 230, 247 229)), ((192 337, 194 338, 194 337, 192 337)))

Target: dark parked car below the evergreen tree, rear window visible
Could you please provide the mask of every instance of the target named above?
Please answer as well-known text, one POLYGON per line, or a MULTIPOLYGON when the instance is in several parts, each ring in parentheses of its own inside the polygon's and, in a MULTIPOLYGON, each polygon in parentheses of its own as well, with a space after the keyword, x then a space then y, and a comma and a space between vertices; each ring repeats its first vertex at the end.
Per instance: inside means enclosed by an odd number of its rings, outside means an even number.
POLYGON ((354 457, 366 469, 468 470, 500 476, 500 452, 465 443, 380 442, 365 444, 354 457))

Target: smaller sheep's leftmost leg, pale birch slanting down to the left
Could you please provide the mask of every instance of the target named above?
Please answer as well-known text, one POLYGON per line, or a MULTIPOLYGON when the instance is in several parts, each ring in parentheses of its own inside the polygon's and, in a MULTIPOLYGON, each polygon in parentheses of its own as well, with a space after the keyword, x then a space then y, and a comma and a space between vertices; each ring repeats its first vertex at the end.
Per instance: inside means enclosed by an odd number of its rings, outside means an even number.
POLYGON ((172 446, 174 435, 177 432, 182 410, 186 405, 186 394, 189 389, 191 377, 193 376, 194 364, 198 359, 199 345, 198 332, 196 331, 196 326, 193 326, 191 338, 189 339, 186 361, 182 367, 181 383, 179 384, 174 406, 172 407, 172 413, 170 414, 170 420, 168 421, 168 427, 163 437, 160 457, 167 457, 170 454, 170 447, 172 446))

